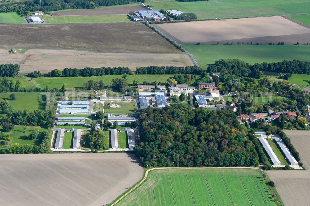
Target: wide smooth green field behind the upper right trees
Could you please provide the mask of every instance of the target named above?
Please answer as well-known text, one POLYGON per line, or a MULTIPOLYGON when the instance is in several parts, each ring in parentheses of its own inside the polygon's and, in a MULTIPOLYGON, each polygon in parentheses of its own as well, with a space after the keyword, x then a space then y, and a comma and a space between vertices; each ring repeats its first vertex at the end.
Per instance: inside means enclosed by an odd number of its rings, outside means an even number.
POLYGON ((200 66, 214 64, 219 59, 241 59, 249 64, 281 62, 286 60, 310 61, 308 45, 182 45, 193 54, 200 66))

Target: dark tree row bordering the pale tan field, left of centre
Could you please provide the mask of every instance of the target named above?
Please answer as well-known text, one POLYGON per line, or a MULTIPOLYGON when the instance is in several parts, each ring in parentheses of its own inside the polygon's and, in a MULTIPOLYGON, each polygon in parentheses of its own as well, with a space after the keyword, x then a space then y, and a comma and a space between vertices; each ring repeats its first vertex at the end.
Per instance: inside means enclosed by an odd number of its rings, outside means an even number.
POLYGON ((51 72, 48 72, 50 77, 104 76, 121 74, 132 74, 132 71, 128 67, 86 67, 84 69, 65 68, 63 71, 54 69, 51 72))

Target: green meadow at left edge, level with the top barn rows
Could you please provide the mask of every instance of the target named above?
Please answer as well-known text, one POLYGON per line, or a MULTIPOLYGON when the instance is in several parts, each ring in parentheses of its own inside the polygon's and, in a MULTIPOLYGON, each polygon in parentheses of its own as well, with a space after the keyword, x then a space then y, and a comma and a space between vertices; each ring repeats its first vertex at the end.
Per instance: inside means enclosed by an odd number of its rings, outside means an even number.
MULTIPOLYGON (((35 109, 44 109, 45 103, 40 101, 40 94, 44 94, 44 92, 25 92, 25 93, 1 93, 0 97, 2 99, 6 99, 9 102, 9 105, 16 110, 29 109, 29 111, 33 111, 35 109), (15 94, 15 100, 10 99, 10 94, 15 94)), ((41 99, 44 99, 43 96, 41 99)))

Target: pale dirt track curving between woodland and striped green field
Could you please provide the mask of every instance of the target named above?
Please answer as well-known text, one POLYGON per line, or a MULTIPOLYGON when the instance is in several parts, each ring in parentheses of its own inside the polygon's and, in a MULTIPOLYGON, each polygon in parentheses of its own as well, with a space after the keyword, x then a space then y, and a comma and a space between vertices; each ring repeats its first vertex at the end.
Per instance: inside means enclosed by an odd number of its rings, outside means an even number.
POLYGON ((133 188, 131 188, 128 192, 126 192, 124 195, 122 195, 119 199, 117 199, 111 206, 117 204, 119 201, 121 201, 124 197, 126 197, 129 193, 131 193, 135 188, 139 187, 148 177, 148 173, 152 170, 160 170, 160 169, 260 169, 259 167, 156 167, 151 168, 145 171, 144 178, 133 188))

